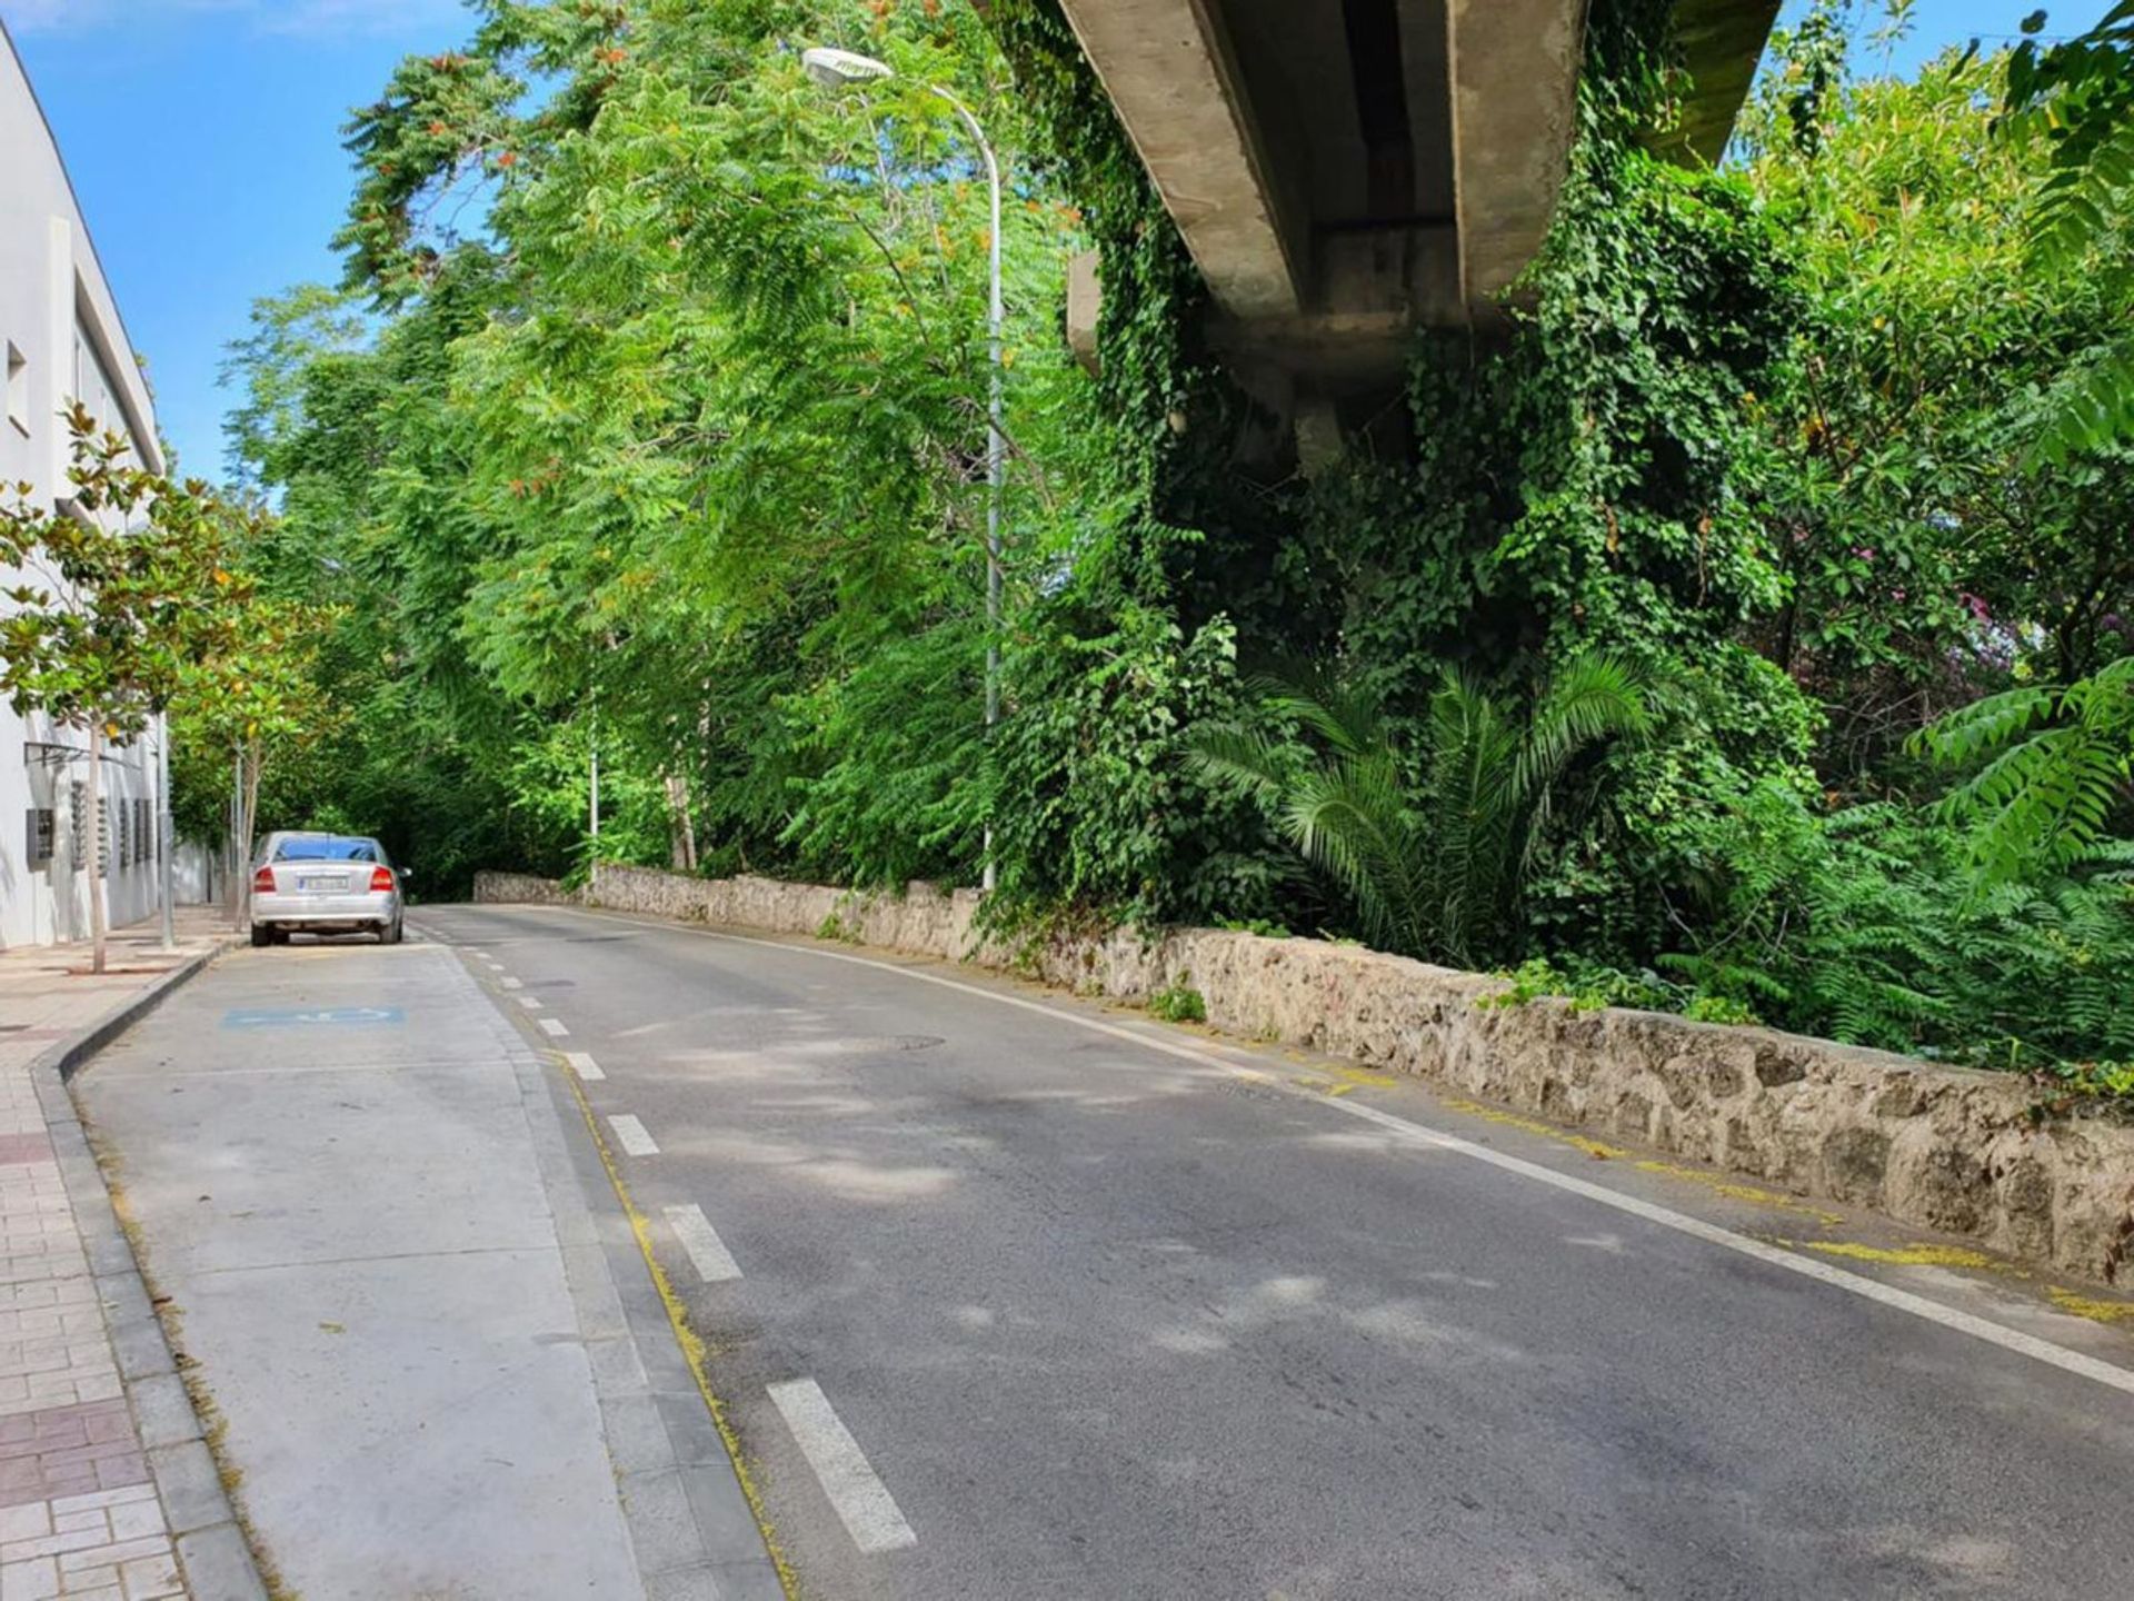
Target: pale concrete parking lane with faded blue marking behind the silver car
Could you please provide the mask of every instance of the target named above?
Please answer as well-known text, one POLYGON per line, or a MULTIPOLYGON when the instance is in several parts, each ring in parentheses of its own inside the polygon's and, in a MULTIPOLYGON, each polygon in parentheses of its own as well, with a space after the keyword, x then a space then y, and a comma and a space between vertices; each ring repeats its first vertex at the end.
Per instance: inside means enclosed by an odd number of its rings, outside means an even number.
POLYGON ((508 1010, 431 944, 243 950, 77 1082, 260 1560, 305 1601, 775 1597, 508 1010))

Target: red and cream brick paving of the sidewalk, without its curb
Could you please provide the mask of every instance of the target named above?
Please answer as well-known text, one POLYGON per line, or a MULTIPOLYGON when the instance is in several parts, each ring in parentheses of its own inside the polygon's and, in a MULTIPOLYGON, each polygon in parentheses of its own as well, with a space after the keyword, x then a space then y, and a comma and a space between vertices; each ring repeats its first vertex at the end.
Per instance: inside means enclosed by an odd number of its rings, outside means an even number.
POLYGON ((0 952, 0 1601, 188 1595, 30 1074, 222 924, 188 907, 177 933, 115 933, 102 978, 70 971, 87 946, 0 952))

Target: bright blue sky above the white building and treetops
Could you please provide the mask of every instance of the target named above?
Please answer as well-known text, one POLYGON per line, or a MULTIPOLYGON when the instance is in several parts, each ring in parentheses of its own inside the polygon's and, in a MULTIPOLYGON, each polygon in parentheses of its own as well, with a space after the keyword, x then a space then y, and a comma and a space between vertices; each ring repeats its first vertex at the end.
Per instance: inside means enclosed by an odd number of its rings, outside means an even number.
MULTIPOLYGON (((856 0, 858 2, 858 0, 856 0)), ((1797 13, 1805 0, 1788 0, 1797 13)), ((2051 4, 2053 32, 2111 0, 2051 4)), ((2029 0, 1918 0, 1910 70, 2029 0)), ((0 0, 60 134, 128 333, 188 472, 222 470, 216 389, 252 301, 333 280, 348 196, 339 126, 395 62, 465 34, 459 0, 0 0)))

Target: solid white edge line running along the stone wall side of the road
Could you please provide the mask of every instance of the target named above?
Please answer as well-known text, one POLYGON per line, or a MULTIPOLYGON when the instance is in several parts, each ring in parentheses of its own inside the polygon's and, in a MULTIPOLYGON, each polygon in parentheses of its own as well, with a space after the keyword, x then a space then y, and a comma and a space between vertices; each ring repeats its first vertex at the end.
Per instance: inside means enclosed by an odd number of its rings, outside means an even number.
POLYGON ((1532 1178, 1534 1183, 1549 1185, 1554 1189, 1571 1191, 1573 1195, 1583 1195, 1586 1200, 1611 1206, 1618 1212, 1628 1212, 1630 1217, 1641 1217, 1647 1223, 1658 1223, 1660 1227, 1675 1230, 1677 1234, 1688 1234, 1707 1245, 1716 1245, 1724 1251, 1737 1251, 1746 1257, 1756 1257, 1773 1268, 1784 1268, 1786 1272, 1797 1272, 1803 1279, 1814 1279, 1816 1283, 1831 1285, 1833 1289, 1844 1289, 1846 1294, 1861 1296, 1863 1300, 1878 1302, 1899 1313, 1910 1313, 1929 1323, 1940 1323, 1959 1334, 1970 1334, 1987 1345, 1997 1345, 2004 1351, 2014 1351, 2017 1356, 2027 1356, 2047 1366, 2059 1368, 2061 1373, 2072 1373, 2081 1379, 2093 1379, 2096 1383, 2134 1394, 2134 1370, 2121 1368, 2113 1362, 2100 1362, 2083 1351, 2070 1351, 2064 1345, 2053 1345, 2036 1334, 2025 1334, 2023 1330, 2008 1328, 2006 1323, 1995 1323, 1987 1317, 1959 1311, 1957 1306, 1944 1306, 1938 1300, 1925 1296, 1914 1296, 1908 1289, 1895 1289, 1878 1279, 1865 1279, 1857 1272, 1846 1272, 1844 1268, 1833 1268, 1829 1262, 1818 1262, 1816 1257, 1797 1255, 1775 1245, 1765 1245, 1763 1240, 1752 1240, 1746 1234, 1735 1234, 1733 1230, 1722 1230, 1718 1223, 1705 1223, 1701 1217, 1690 1217, 1688 1212, 1677 1212, 1671 1206, 1658 1206, 1637 1195, 1626 1195, 1620 1189, 1607 1189, 1603 1185, 1588 1183, 1586 1178, 1573 1178, 1566 1172, 1556 1172, 1554 1168, 1543 1168, 1539 1161, 1524 1161, 1522 1157, 1504 1155, 1502 1151, 1492 1151, 1490 1146, 1475 1144, 1472 1140, 1462 1140, 1455 1134, 1440 1134, 1438 1129, 1423 1127, 1421 1123, 1411 1123, 1404 1116, 1394 1116, 1391 1112, 1381 1112, 1376 1106, 1366 1106, 1355 1097, 1332 1099, 1325 1095, 1310 1095, 1300 1091, 1274 1074, 1263 1074, 1253 1067, 1240 1067, 1233 1061, 1225 1061, 1208 1050, 1195 1050, 1193 1046, 1180 1044, 1176 1040, 1154 1040, 1146 1033, 1133 1029, 1122 1029, 1116 1023, 1103 1023, 1099 1018, 1076 1016, 1073 1012, 1063 1012, 1054 1005, 1044 1005, 1041 1001, 1026 1001, 1020 995, 1001 995, 999 990, 988 990, 977 984, 962 984, 954 978, 941 978, 939 973, 922 973, 911 967, 898 967, 896 963, 879 963, 869 956, 851 956, 843 950, 815 950, 813 946, 787 946, 777 939, 751 939, 749 935, 730 935, 715 929, 687 929, 683 924, 668 922, 640 922, 638 918, 619 918, 606 912, 578 912, 583 918, 600 918, 604 922, 625 922, 632 929, 672 929, 679 933, 702 935, 706 939, 726 939, 736 946, 770 946, 775 950, 790 950, 802 956, 822 956, 834 963, 854 963, 858 967, 875 967, 883 973, 898 973, 903 978, 913 978, 920 984, 939 984, 941 988, 958 990, 962 995, 977 995, 986 1001, 999 1001, 1001 1005, 1014 1005, 1024 1012, 1037 1012, 1039 1016, 1056 1018, 1061 1023, 1071 1023, 1078 1029, 1088 1029, 1093 1033, 1108 1033, 1116 1040, 1127 1040, 1148 1050, 1161 1050, 1167 1057, 1180 1057, 1184 1061, 1201 1063, 1204 1067, 1216 1067, 1231 1078, 1244 1078, 1257 1084, 1280 1089, 1289 1095, 1308 1099, 1312 1106, 1323 1106, 1329 1112, 1344 1112, 1347 1116, 1361 1119, 1364 1123, 1374 1123, 1389 1134, 1398 1134, 1415 1144, 1430 1146, 1434 1151, 1449 1151, 1460 1157, 1472 1157, 1475 1161, 1485 1161, 1492 1168, 1502 1168, 1504 1172, 1515 1172, 1522 1178, 1532 1178))

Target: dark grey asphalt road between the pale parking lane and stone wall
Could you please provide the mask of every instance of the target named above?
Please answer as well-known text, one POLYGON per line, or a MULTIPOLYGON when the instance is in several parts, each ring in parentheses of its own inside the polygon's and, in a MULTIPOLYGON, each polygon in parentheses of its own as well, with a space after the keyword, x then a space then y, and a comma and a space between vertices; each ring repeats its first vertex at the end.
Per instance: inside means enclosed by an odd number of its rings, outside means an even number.
POLYGON ((1667 1221, 1797 1210, 941 967, 420 926, 600 1074, 807 1597, 2134 1595, 2134 1338, 2029 1289, 1814 1279, 1667 1221))

